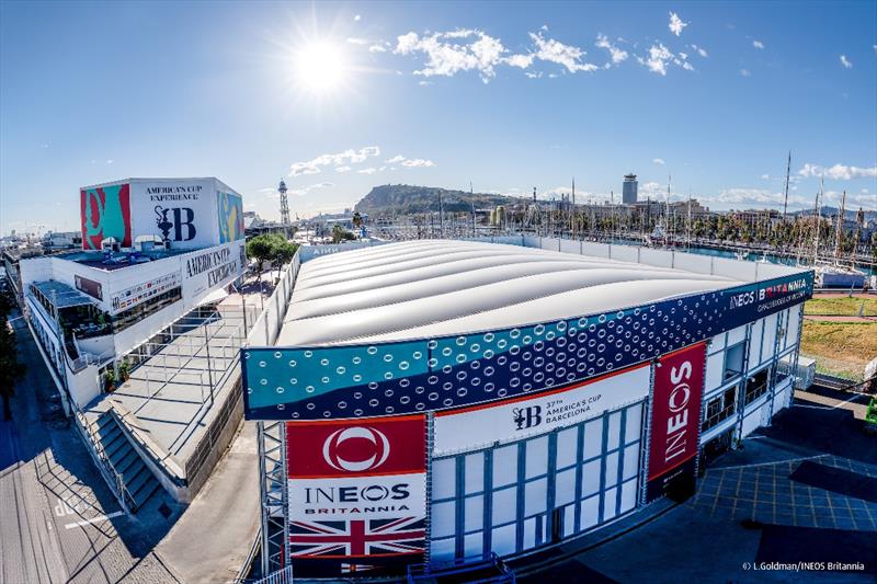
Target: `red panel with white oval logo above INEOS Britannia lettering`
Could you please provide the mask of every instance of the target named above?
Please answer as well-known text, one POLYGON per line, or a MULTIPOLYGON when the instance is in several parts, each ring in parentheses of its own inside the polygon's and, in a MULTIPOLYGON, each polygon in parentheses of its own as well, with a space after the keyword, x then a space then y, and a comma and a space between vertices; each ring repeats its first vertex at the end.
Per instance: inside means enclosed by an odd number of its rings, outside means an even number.
POLYGON ((291 479, 378 477, 425 472, 423 415, 326 422, 289 422, 291 479))

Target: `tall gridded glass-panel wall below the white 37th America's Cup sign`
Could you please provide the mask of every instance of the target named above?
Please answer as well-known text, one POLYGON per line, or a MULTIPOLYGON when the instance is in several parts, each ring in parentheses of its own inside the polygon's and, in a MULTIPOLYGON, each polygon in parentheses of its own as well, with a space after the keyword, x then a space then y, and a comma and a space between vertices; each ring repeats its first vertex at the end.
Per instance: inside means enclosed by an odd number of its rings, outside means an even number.
POLYGON ((641 423, 640 402, 553 436, 434 459, 432 563, 520 553, 636 508, 641 423))

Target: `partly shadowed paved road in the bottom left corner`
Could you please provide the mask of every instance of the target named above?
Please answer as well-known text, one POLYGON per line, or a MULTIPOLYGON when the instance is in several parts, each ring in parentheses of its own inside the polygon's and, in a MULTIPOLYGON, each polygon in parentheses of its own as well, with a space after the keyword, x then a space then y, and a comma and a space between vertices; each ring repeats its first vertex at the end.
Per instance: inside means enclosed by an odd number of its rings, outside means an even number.
POLYGON ((163 534, 125 515, 58 413, 26 324, 12 322, 27 376, 15 387, 12 423, 0 422, 0 582, 179 582, 152 551, 163 534))

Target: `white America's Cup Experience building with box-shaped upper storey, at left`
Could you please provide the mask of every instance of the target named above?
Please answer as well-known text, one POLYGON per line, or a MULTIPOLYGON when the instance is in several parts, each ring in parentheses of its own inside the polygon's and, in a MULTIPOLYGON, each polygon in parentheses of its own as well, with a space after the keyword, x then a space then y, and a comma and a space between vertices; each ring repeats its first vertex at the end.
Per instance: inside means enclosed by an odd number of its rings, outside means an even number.
POLYGON ((26 317, 76 406, 100 373, 247 266, 242 202, 216 179, 128 179, 80 191, 82 251, 21 262, 26 317))

